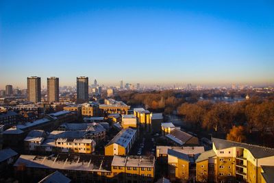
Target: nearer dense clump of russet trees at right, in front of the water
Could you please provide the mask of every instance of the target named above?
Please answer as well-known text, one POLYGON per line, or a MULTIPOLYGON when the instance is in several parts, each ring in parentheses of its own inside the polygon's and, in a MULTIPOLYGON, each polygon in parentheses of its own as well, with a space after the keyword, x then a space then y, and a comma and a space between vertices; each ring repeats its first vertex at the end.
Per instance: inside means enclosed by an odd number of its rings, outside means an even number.
POLYGON ((192 127, 226 133, 227 139, 230 140, 245 141, 245 138, 233 138, 233 136, 254 132, 260 136, 266 134, 274 136, 273 100, 253 98, 236 103, 198 101, 183 103, 177 111, 192 127))

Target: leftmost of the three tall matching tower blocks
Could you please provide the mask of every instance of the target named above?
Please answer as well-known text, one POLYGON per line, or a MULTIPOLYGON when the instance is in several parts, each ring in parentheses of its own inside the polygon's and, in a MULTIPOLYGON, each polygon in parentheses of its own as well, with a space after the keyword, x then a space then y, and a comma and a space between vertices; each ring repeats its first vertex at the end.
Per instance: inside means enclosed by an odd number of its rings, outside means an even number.
POLYGON ((27 99, 34 103, 41 101, 41 78, 27 77, 27 99))

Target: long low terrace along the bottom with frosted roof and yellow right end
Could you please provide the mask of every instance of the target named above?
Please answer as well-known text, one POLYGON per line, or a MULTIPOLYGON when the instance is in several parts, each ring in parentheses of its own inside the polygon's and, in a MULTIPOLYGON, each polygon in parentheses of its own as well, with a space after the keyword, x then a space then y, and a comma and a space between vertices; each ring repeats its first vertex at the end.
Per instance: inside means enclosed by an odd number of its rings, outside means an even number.
POLYGON ((152 183, 155 159, 153 156, 21 155, 14 169, 16 178, 28 182, 38 182, 59 171, 73 182, 152 183))

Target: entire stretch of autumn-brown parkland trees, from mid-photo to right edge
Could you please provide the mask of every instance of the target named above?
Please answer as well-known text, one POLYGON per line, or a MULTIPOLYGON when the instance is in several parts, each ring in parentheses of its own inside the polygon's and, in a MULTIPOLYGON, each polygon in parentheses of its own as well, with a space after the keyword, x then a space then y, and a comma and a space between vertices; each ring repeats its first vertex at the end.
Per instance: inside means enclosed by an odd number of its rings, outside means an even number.
POLYGON ((273 93, 252 93, 251 90, 228 94, 222 90, 124 91, 115 98, 131 106, 142 106, 151 112, 177 112, 192 129, 227 134, 227 139, 233 141, 245 141, 247 138, 242 136, 254 133, 262 137, 266 134, 274 136, 273 93), (213 100, 214 97, 245 97, 246 93, 251 93, 253 97, 234 103, 213 100), (199 100, 200 97, 208 100, 199 100))

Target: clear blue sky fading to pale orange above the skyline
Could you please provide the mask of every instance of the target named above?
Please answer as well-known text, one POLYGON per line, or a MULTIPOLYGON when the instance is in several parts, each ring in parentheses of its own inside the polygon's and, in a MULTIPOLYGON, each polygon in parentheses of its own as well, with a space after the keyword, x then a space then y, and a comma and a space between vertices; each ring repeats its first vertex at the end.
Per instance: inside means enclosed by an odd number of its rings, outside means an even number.
POLYGON ((274 84, 274 1, 0 1, 0 88, 274 84))

